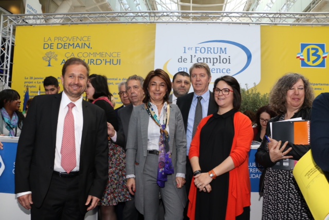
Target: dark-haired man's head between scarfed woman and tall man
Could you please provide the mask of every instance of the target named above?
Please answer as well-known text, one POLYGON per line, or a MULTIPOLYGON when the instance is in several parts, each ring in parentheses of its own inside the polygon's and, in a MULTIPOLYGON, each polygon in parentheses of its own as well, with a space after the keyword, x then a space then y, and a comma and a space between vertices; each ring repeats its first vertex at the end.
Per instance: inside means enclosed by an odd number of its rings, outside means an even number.
POLYGON ((169 102, 176 104, 177 98, 189 93, 191 87, 190 75, 187 72, 180 71, 174 75, 172 81, 173 93, 169 96, 169 102))

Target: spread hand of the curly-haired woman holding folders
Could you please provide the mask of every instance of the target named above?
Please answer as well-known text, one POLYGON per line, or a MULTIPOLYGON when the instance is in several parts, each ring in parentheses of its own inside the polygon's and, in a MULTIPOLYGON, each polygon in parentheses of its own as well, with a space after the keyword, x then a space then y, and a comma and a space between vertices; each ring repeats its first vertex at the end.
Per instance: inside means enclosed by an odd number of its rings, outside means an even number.
POLYGON ((280 148, 281 146, 281 140, 277 141, 275 139, 269 138, 269 140, 271 142, 268 143, 268 151, 269 151, 269 157, 271 159, 272 162, 276 162, 278 160, 282 160, 282 159, 289 159, 289 158, 293 158, 293 156, 286 156, 293 148, 289 148, 288 150, 286 150, 285 152, 284 149, 286 148, 288 141, 286 141, 283 145, 282 148, 280 148))

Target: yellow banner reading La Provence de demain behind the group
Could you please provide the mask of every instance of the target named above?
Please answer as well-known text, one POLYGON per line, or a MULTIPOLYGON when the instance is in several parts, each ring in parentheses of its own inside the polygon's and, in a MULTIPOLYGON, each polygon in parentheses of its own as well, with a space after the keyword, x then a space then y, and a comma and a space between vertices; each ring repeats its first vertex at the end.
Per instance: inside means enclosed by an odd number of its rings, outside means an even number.
POLYGON ((26 85, 30 98, 38 95, 39 88, 44 94, 43 79, 53 76, 60 82, 64 62, 77 57, 88 63, 90 74, 108 78, 118 107, 118 84, 153 70, 154 50, 153 24, 17 27, 12 88, 22 101, 26 85))

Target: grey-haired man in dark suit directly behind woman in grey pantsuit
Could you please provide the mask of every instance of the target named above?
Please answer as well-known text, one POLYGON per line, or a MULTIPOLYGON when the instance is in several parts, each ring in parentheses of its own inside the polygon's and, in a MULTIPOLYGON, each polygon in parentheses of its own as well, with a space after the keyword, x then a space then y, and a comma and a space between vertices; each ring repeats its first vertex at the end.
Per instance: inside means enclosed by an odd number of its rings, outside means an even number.
MULTIPOLYGON (((125 149, 126 137, 128 133, 128 125, 130 116, 133 112, 134 106, 140 105, 143 103, 144 91, 143 91, 144 79, 140 76, 133 75, 127 79, 125 83, 125 93, 129 97, 129 100, 132 104, 121 108, 118 111, 118 122, 119 130, 116 132, 111 124, 108 123, 108 134, 112 140, 125 149)), ((123 219, 124 220, 136 220, 140 214, 135 208, 135 199, 132 197, 132 200, 126 201, 123 208, 123 219)))

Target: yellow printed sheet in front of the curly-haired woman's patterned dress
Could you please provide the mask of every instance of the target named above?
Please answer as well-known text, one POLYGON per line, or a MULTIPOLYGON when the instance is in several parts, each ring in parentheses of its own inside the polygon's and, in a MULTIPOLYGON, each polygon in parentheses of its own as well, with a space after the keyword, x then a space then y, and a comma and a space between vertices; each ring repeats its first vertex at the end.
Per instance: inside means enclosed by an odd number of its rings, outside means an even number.
POLYGON ((329 183, 311 150, 297 162, 293 174, 315 220, 328 220, 329 183))

